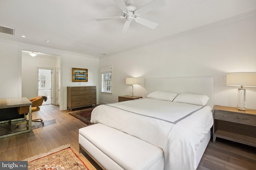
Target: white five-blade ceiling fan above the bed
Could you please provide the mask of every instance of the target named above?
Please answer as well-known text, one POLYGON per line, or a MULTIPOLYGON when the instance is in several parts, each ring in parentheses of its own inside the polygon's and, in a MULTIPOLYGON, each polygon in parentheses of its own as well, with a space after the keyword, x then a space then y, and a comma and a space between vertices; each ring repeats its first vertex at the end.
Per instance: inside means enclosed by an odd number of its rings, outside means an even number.
POLYGON ((127 0, 126 4, 122 0, 114 0, 114 2, 122 10, 121 16, 95 18, 95 20, 105 21, 105 20, 126 19, 121 33, 128 30, 132 20, 136 21, 137 23, 140 23, 141 25, 149 27, 151 29, 155 29, 157 27, 158 23, 140 18, 139 16, 140 16, 140 14, 150 12, 156 8, 159 8, 160 6, 165 5, 164 0, 152 0, 145 6, 142 6, 141 8, 137 9, 135 6, 132 6, 134 0, 127 0))

